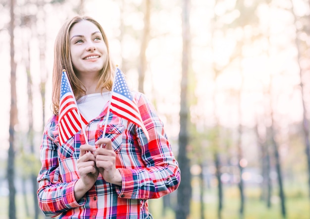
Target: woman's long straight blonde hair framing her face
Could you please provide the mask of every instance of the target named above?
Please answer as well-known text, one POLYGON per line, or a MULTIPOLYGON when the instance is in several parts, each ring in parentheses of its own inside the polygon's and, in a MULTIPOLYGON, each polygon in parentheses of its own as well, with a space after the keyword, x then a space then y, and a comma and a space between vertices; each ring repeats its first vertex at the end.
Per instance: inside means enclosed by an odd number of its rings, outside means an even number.
POLYGON ((73 17, 72 19, 66 21, 60 28, 54 45, 54 64, 52 71, 52 110, 55 115, 57 115, 59 112, 60 80, 61 80, 61 72, 63 69, 67 71, 67 75, 76 100, 86 95, 84 85, 74 73, 70 54, 70 39, 69 39, 69 33, 71 28, 76 23, 81 22, 83 20, 90 21, 98 27, 103 36, 103 41, 107 48, 106 60, 99 76, 97 89, 98 90, 100 89, 102 92, 104 88, 108 90, 111 90, 112 88, 115 66, 112 63, 109 55, 108 41, 102 26, 91 17, 80 17, 80 16, 73 17))

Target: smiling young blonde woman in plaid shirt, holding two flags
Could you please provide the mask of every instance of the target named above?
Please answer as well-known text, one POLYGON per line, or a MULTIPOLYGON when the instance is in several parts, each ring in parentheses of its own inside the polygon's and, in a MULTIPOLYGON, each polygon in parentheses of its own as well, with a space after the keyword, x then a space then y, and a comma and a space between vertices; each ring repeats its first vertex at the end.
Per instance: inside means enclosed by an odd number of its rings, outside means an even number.
POLYGON ((141 127, 111 112, 103 133, 114 70, 106 35, 97 21, 74 17, 64 23, 54 48, 53 115, 40 147, 38 200, 47 216, 148 219, 152 216, 147 200, 173 192, 180 183, 180 169, 162 122, 143 94, 132 92, 149 140, 141 127), (62 69, 87 124, 60 144, 62 69))

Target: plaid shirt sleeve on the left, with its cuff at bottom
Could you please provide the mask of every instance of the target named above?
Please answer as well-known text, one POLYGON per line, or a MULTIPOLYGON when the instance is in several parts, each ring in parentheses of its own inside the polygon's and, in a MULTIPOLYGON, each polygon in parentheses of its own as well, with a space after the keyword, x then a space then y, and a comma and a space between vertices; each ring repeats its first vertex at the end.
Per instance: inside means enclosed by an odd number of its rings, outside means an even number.
MULTIPOLYGON (((55 116, 53 116, 55 117, 55 116)), ((46 216, 52 218, 59 216, 68 209, 79 207, 85 204, 86 199, 82 198, 79 202, 74 197, 74 185, 76 180, 64 183, 62 182, 58 156, 57 145, 54 142, 52 133, 55 129, 55 119, 45 127, 45 131, 40 146, 40 159, 42 163, 38 175, 38 201, 39 206, 46 216)))

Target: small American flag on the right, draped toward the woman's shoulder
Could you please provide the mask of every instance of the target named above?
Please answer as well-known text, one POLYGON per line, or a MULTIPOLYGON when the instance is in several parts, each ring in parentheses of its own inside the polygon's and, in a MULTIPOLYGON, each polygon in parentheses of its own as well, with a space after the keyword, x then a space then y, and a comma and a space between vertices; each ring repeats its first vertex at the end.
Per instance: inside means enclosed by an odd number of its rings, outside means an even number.
POLYGON ((110 105, 111 112, 140 126, 149 140, 149 133, 144 126, 138 106, 119 68, 116 69, 113 86, 110 105))

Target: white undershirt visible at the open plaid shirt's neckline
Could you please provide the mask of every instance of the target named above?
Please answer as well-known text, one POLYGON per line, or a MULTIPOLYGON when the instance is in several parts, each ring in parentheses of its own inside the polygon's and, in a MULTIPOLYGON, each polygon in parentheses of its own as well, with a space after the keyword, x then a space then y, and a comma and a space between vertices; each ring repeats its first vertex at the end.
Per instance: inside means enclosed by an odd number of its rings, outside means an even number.
POLYGON ((111 92, 89 94, 77 101, 78 109, 87 121, 100 115, 104 105, 110 100, 111 92))

